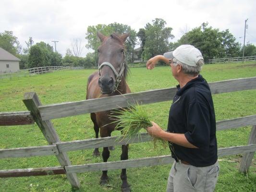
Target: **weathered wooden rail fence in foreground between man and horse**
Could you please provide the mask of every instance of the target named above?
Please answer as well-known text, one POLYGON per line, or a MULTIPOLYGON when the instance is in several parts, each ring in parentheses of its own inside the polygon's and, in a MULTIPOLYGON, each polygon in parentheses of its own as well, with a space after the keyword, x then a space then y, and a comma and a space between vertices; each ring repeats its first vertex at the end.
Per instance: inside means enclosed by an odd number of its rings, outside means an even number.
MULTIPOLYGON (((212 94, 256 89, 256 77, 214 82, 209 83, 209 86, 212 94)), ((126 140, 117 142, 116 137, 61 142, 50 120, 102 110, 127 107, 128 103, 133 104, 139 102, 141 104, 149 104, 168 101, 174 96, 175 92, 176 88, 167 88, 125 94, 122 96, 110 96, 105 98, 52 105, 42 105, 36 93, 34 92, 25 93, 23 101, 29 111, 0 113, 0 125, 24 125, 34 123, 35 121, 44 134, 49 145, 1 149, 0 158, 55 155, 61 166, 0 170, 0 177, 66 174, 67 179, 70 181, 71 185, 74 187, 79 187, 80 183, 76 176, 76 173, 79 172, 121 168, 138 168, 172 163, 173 159, 171 158, 171 155, 167 155, 105 163, 71 165, 69 157, 66 154, 68 151, 98 148, 104 146, 115 146, 127 143, 131 144, 148 142, 152 140, 152 137, 145 133, 142 134, 141 138, 134 137, 134 139, 131 139, 129 142, 126 140)), ((240 117, 232 120, 221 120, 217 122, 217 131, 251 125, 252 130, 248 140, 248 145, 218 149, 219 157, 234 154, 245 154, 240 165, 240 171, 243 173, 248 171, 256 151, 256 115, 240 117)))

